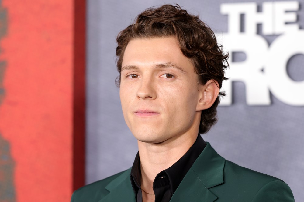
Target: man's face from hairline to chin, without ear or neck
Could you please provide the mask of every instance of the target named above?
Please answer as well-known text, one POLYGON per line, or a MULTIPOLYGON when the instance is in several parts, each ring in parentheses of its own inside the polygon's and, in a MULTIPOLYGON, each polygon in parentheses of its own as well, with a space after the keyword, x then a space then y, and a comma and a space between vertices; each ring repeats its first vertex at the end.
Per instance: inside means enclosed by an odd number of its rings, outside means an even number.
POLYGON ((192 62, 175 37, 133 39, 126 47, 120 100, 137 140, 160 143, 198 133, 202 97, 192 62))

